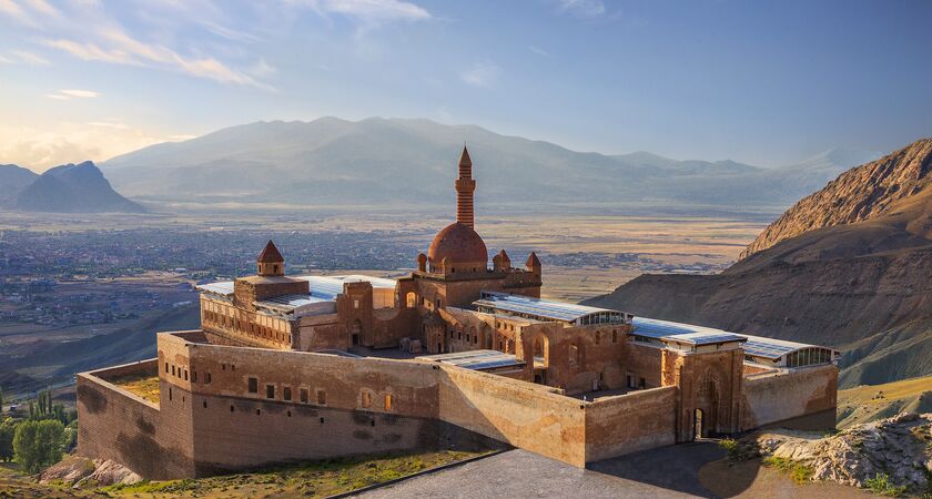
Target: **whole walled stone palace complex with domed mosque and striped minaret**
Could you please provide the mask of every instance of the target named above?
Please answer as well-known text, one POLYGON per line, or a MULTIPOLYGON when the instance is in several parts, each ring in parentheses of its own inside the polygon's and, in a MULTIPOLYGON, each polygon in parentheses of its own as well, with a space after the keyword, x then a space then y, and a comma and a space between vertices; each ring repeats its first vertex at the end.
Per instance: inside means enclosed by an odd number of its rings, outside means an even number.
POLYGON ((575 466, 770 425, 831 428, 838 353, 540 298, 534 253, 489 266, 464 147, 456 222, 397 278, 203 284, 201 328, 78 376, 79 454, 150 479, 383 451, 520 447, 575 466), (115 383, 158 376, 160 399, 115 383))

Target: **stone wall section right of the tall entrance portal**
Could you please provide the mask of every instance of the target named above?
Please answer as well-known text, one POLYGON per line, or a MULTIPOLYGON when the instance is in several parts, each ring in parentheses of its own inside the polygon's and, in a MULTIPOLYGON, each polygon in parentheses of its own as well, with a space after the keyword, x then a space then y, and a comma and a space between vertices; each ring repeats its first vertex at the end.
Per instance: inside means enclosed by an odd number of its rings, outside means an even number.
POLYGON ((804 367, 744 378, 741 428, 780 424, 798 429, 834 428, 838 367, 804 367))

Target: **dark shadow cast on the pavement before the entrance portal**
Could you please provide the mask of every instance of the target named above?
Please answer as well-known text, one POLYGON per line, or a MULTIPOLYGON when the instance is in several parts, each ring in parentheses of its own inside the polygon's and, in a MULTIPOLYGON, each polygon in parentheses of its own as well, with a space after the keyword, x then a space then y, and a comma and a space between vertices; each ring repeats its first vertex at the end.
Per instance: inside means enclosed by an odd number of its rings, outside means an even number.
POLYGON ((741 472, 730 472, 727 464, 716 462, 725 456, 725 450, 716 441, 697 441, 606 459, 589 464, 586 468, 698 497, 733 497, 750 488, 759 465, 742 466, 741 472), (703 470, 707 465, 712 466, 703 470), (716 492, 710 491, 703 482, 715 483, 712 488, 716 492))

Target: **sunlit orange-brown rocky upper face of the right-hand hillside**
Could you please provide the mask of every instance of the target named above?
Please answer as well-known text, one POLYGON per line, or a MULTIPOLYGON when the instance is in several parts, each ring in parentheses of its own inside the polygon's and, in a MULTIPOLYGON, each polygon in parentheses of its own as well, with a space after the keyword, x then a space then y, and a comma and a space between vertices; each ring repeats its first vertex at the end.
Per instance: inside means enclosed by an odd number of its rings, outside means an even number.
POLYGON ((932 139, 842 173, 803 197, 751 243, 741 258, 804 232, 872 220, 932 184, 932 139))

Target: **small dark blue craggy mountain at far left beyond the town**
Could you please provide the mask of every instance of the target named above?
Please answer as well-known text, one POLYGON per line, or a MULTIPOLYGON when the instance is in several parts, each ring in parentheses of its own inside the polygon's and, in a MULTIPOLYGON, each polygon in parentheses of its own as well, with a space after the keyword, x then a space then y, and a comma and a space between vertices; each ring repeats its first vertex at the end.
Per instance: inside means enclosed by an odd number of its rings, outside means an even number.
POLYGON ((142 206, 121 196, 90 161, 48 170, 23 187, 12 207, 27 212, 141 212, 142 206))

